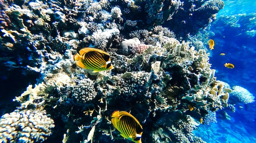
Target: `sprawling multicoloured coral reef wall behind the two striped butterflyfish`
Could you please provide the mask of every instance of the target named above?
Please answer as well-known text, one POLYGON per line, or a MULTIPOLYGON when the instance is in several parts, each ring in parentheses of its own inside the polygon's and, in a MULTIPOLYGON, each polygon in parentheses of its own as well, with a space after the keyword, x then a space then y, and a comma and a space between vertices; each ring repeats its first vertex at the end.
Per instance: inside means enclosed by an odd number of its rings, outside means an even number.
POLYGON ((13 99, 20 106, 0 118, 0 142, 42 142, 56 132, 63 143, 123 143, 111 124, 119 110, 141 123, 142 143, 204 143, 193 130, 216 122, 215 112, 232 106, 231 95, 254 102, 246 89, 229 94, 229 85, 216 80, 201 41, 186 42, 223 6, 222 0, 1 0, 1 53, 8 59, 1 70, 22 67, 39 77, 13 99), (108 52, 114 69, 77 67, 73 55, 84 47, 108 52))

